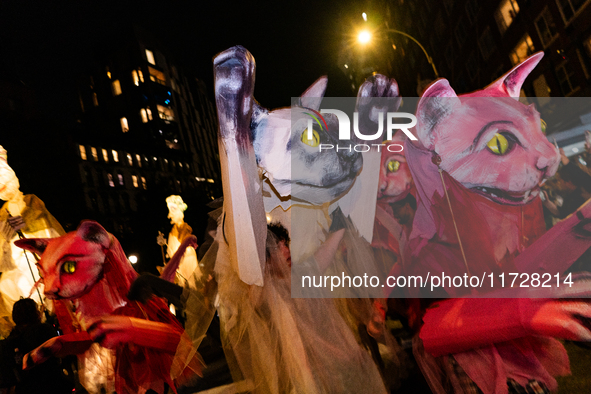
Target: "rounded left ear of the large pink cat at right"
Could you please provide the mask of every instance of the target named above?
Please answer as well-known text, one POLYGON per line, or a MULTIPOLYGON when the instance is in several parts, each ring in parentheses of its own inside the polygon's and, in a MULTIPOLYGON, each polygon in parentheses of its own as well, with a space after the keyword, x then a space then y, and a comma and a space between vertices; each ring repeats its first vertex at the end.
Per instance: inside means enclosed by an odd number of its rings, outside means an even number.
POLYGON ((433 150, 435 126, 459 105, 460 99, 447 79, 438 79, 425 89, 417 106, 416 127, 425 148, 433 150))

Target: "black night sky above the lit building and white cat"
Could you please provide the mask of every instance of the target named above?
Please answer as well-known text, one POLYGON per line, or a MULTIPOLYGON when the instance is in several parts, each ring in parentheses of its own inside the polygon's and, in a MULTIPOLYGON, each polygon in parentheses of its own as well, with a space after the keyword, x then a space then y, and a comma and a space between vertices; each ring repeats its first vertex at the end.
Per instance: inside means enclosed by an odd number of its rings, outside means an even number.
POLYGON ((327 95, 350 95, 336 59, 343 23, 362 21, 358 9, 335 0, 2 1, 0 65, 28 85, 59 90, 70 67, 92 56, 95 43, 135 22, 160 37, 176 62, 192 69, 210 91, 215 54, 246 47, 257 62, 255 97, 274 108, 289 105, 291 96, 325 74, 327 95))

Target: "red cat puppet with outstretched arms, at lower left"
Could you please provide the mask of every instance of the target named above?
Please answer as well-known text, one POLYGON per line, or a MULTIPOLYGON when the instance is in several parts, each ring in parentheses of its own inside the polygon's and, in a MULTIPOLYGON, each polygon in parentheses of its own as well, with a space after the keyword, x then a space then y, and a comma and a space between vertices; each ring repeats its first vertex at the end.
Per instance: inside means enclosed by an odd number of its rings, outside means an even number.
MULTIPOLYGON (((179 247, 178 256, 191 242, 195 243, 194 237, 179 247)), ((111 371, 106 367, 99 372, 108 376, 92 379, 106 378, 107 389, 118 393, 150 389, 163 393, 165 384, 176 393, 176 387, 200 374, 196 350, 162 299, 128 299, 137 274, 117 239, 101 225, 85 221, 77 231, 62 237, 25 239, 16 244, 41 256, 37 265, 45 295, 54 300, 65 332, 28 353, 25 367, 50 355, 79 354, 82 365, 92 359, 95 370, 99 365, 110 366, 111 371), (110 382, 113 373, 114 382, 110 382)))

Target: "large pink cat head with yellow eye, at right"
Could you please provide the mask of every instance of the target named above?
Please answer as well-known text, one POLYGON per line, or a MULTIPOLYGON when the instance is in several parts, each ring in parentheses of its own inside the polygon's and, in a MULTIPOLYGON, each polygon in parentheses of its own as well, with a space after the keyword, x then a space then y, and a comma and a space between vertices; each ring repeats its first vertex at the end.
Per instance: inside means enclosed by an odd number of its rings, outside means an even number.
POLYGON ((440 168, 465 187, 503 204, 523 204, 556 172, 558 150, 541 130, 533 105, 518 101, 537 53, 483 90, 457 96, 445 79, 429 86, 417 107, 417 133, 440 168))

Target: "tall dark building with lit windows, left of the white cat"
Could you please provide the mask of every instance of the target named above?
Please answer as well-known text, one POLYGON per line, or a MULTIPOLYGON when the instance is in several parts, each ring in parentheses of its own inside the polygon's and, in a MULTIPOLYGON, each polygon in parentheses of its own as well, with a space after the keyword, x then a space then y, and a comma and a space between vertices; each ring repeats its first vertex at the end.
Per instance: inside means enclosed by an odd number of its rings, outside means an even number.
POLYGON ((193 209, 221 196, 212 101, 157 40, 138 27, 105 40, 77 90, 71 146, 86 216, 125 241, 154 227, 146 216, 166 219, 170 194, 193 209))

